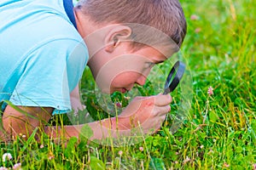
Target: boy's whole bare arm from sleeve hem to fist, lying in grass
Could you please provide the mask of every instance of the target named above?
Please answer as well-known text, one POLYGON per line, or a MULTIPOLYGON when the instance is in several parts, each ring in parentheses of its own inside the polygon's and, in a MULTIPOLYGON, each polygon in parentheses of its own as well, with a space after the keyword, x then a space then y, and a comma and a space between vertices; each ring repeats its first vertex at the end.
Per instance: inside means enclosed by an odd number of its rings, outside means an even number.
MULTIPOLYGON (((91 139, 116 138, 118 135, 129 135, 131 128, 141 125, 143 133, 148 133, 152 128, 154 132, 160 128, 161 123, 166 118, 166 113, 171 111, 170 103, 172 98, 169 94, 157 95, 153 97, 140 97, 133 99, 131 104, 119 117, 112 117, 98 122, 90 122, 88 125, 93 131, 91 139)), ((22 112, 29 113, 30 116, 16 111, 9 105, 3 113, 3 127, 11 135, 20 133, 30 135, 35 127, 43 127, 45 133, 53 139, 79 138, 79 134, 84 127, 82 125, 61 127, 44 127, 49 121, 53 108, 20 107, 22 112)))

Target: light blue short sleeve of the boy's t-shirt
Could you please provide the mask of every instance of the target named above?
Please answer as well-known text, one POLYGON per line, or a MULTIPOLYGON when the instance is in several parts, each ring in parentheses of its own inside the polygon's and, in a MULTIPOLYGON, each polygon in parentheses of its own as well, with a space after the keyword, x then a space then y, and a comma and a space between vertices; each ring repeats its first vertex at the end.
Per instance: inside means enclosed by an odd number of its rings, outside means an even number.
POLYGON ((88 60, 84 42, 63 38, 44 43, 22 61, 24 71, 10 101, 14 105, 70 111, 70 92, 88 60))

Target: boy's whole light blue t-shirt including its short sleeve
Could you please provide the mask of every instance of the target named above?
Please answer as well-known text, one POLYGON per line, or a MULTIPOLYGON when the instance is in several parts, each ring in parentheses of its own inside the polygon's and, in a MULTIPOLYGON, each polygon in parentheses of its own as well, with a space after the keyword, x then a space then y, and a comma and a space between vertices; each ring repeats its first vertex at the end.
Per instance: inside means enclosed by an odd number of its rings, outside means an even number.
POLYGON ((62 0, 0 1, 0 101, 70 111, 88 58, 62 0))

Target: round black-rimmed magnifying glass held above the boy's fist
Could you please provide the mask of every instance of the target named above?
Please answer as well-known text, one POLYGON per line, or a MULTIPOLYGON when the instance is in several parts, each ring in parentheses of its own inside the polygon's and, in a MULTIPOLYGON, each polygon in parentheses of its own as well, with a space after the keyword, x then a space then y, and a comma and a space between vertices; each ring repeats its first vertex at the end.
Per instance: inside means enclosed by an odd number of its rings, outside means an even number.
POLYGON ((171 93, 175 88, 177 88, 178 83, 183 77, 185 71, 185 64, 181 61, 177 61, 170 71, 168 77, 166 78, 165 91, 164 94, 171 93))

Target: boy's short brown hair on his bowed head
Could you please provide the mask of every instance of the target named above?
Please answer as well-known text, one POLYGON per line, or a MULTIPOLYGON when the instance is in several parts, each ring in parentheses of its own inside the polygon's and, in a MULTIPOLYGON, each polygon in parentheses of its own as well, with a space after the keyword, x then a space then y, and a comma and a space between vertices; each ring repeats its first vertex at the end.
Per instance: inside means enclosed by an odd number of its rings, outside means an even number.
MULTIPOLYGON (((165 33, 180 48, 187 31, 183 8, 178 0, 82 0, 77 7, 96 24, 130 23, 128 26, 133 31, 131 39, 134 42, 143 42, 137 38, 148 37, 148 32, 141 26, 150 26, 165 33)), ((154 34, 151 32, 149 37, 157 37, 154 34)))

